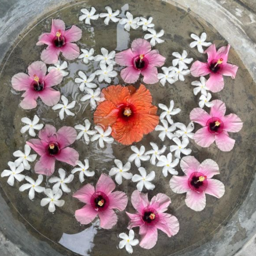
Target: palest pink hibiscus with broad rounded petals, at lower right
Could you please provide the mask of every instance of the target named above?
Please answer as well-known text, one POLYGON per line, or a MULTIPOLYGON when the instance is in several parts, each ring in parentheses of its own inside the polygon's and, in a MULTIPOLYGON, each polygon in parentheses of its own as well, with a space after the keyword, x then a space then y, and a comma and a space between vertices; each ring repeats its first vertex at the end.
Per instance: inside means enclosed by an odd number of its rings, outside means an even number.
POLYGON ((201 164, 193 156, 183 157, 180 167, 185 176, 173 176, 170 179, 170 188, 175 193, 186 195, 186 205, 201 211, 205 208, 205 194, 221 198, 225 193, 225 187, 219 180, 211 179, 220 174, 218 164, 211 159, 204 160, 201 164))

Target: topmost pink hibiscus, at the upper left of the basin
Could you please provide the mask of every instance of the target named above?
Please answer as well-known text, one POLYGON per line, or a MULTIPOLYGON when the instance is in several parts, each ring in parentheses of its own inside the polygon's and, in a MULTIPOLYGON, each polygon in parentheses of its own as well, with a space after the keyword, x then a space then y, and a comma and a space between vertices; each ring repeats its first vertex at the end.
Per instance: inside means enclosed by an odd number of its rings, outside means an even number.
POLYGON ((72 26, 65 30, 63 20, 53 19, 51 32, 41 34, 36 43, 37 46, 48 45, 41 53, 41 60, 47 64, 55 64, 58 62, 60 52, 66 59, 77 58, 80 55, 80 50, 73 42, 78 41, 81 36, 82 31, 78 27, 72 26))

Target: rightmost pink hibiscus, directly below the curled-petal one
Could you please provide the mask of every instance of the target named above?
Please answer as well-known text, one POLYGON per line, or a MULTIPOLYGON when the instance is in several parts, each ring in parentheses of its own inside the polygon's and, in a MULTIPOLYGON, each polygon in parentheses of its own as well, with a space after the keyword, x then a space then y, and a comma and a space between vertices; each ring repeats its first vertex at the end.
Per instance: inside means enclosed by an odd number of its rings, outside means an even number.
POLYGON ((230 151, 236 140, 231 139, 227 132, 239 132, 243 123, 235 114, 225 116, 226 105, 221 100, 211 102, 214 105, 210 109, 210 114, 201 108, 195 108, 190 112, 191 121, 203 126, 195 133, 194 140, 202 147, 208 147, 216 141, 221 151, 230 151))

